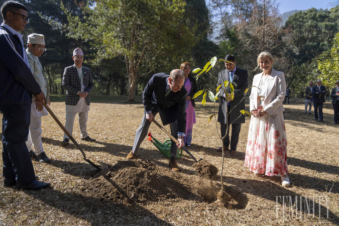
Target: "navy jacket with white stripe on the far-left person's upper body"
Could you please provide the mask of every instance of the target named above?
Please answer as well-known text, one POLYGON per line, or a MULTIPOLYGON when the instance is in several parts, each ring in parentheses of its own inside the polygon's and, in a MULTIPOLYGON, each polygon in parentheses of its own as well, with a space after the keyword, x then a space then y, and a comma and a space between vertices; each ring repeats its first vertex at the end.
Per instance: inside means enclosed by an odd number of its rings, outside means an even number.
POLYGON ((31 110, 31 93, 37 95, 41 88, 23 60, 21 41, 0 26, 0 43, 0 110, 31 110))

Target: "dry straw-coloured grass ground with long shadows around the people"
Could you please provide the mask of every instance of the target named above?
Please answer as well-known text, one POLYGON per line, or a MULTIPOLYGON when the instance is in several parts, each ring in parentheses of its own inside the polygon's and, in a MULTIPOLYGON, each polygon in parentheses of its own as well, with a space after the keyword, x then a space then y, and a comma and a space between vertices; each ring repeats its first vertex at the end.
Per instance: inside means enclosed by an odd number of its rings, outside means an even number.
MULTIPOLYGON (((194 161, 184 154, 178 160, 182 170, 173 175, 173 179, 188 190, 199 192, 203 185, 220 187, 221 155, 215 151, 220 140, 215 123, 207 123, 212 106, 212 103, 196 104, 197 124, 193 127, 189 150, 197 159, 203 158, 219 169, 217 180, 198 178, 192 167, 194 161), (188 179, 185 182, 180 177, 188 179)), ((54 101, 51 109, 64 123, 64 103, 54 101)), ((81 159, 74 144, 60 146, 63 132, 50 116, 44 117, 43 145, 53 162, 33 161, 33 165, 36 175, 52 186, 40 191, 0 186, 0 225, 338 225, 339 155, 335 134, 339 126, 333 125, 329 102, 324 104, 325 125, 314 122, 313 115, 304 115, 303 109, 301 99, 291 99, 291 104, 285 105, 289 188, 282 187, 278 177, 258 177, 244 167, 250 121, 247 118, 242 126, 237 157, 226 154, 224 159, 223 181, 227 190, 245 197, 243 207, 233 210, 194 198, 196 196, 138 203, 90 195, 85 185, 97 177, 96 170, 81 159)), ((141 103, 123 104, 107 98, 94 100, 87 131, 97 143, 81 141, 77 122, 73 137, 92 162, 102 168, 115 165, 125 161, 132 150, 143 111, 141 103)), ((159 141, 167 139, 156 125, 151 125, 150 131, 159 141)), ((141 147, 141 160, 151 160, 169 170, 168 160, 149 141, 145 139, 141 147)))

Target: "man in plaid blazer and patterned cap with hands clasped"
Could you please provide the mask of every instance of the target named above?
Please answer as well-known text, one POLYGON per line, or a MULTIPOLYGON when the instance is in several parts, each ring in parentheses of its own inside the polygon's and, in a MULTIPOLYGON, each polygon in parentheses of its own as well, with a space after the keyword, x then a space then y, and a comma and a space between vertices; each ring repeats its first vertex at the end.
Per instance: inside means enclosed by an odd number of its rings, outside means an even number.
MULTIPOLYGON (((92 74, 82 66, 83 52, 76 48, 73 51, 74 65, 66 67, 62 77, 62 85, 66 89, 66 130, 72 135, 75 115, 79 116, 79 127, 83 141, 95 141, 88 136, 86 122, 90 104, 89 93, 93 88, 92 74)), ((68 145, 69 137, 64 134, 61 145, 68 145)))

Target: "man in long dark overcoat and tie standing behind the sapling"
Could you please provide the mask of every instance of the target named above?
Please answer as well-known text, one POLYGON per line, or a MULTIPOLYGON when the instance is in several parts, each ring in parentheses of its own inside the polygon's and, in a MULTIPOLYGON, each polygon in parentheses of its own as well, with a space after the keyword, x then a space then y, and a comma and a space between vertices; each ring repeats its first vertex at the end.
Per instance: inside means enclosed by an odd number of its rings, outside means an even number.
MULTIPOLYGON (((225 57, 226 69, 221 71, 218 75, 217 86, 221 84, 222 90, 220 92, 220 104, 218 111, 218 122, 220 123, 221 137, 225 136, 227 131, 227 120, 229 127, 232 124, 231 142, 229 133, 223 139, 224 150, 229 150, 232 157, 237 155, 237 145, 239 141, 239 134, 241 130, 241 124, 245 123, 245 116, 241 114, 241 110, 245 109, 245 90, 249 85, 247 70, 241 69, 236 66, 236 58, 234 55, 227 55, 225 57), (228 61, 228 62, 227 62, 228 61), (224 93, 224 81, 233 81, 234 84, 234 99, 227 101, 225 95, 230 93, 224 93), (226 107, 228 108, 229 116, 226 114, 226 107), (230 146, 231 144, 231 146, 230 146), (229 149, 229 146, 231 149, 229 149)), ((230 91, 230 90, 228 90, 230 91)), ((218 152, 222 151, 222 147, 217 149, 218 152)))

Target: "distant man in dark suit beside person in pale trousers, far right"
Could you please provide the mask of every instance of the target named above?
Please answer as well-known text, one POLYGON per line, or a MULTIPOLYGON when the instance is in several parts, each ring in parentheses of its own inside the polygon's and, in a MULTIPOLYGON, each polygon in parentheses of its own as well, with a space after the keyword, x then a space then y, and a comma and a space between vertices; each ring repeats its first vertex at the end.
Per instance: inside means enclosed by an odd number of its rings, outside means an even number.
POLYGON ((321 85, 321 80, 316 80, 316 86, 312 88, 312 101, 314 105, 314 119, 318 121, 318 110, 319 110, 319 122, 324 123, 322 118, 322 105, 325 102, 326 88, 321 85))

